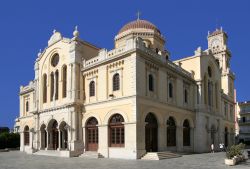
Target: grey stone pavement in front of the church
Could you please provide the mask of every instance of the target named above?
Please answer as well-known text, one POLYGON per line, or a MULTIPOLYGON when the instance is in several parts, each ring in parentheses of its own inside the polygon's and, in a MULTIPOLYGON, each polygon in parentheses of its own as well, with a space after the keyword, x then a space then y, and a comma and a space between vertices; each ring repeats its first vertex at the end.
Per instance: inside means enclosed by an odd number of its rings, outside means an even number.
POLYGON ((250 169, 250 160, 240 165, 224 165, 225 153, 184 155, 160 161, 63 158, 27 155, 19 151, 1 152, 0 169, 250 169))

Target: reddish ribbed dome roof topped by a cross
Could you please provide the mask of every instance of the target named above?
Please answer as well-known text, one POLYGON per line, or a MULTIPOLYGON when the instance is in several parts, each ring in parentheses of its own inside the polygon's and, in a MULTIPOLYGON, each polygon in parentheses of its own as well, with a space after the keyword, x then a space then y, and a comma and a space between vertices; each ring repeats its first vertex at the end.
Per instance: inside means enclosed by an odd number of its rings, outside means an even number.
POLYGON ((124 25, 120 29, 119 34, 131 29, 150 29, 161 34, 160 30, 154 24, 152 24, 149 21, 140 19, 137 19, 135 21, 129 22, 128 24, 124 25))

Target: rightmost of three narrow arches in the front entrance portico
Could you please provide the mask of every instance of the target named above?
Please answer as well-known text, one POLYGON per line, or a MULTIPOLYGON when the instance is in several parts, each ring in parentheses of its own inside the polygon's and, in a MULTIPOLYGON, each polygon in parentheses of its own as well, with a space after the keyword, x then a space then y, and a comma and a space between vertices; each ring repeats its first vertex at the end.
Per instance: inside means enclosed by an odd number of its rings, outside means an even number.
POLYGON ((68 125, 65 121, 60 123, 60 148, 67 149, 68 148, 68 125))

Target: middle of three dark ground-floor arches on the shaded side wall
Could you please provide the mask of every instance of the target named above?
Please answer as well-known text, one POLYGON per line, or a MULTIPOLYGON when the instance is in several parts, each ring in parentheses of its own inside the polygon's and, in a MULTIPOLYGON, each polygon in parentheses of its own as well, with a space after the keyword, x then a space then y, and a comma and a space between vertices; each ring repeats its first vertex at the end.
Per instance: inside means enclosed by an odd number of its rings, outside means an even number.
POLYGON ((173 117, 167 120, 167 146, 176 146, 176 125, 173 117))

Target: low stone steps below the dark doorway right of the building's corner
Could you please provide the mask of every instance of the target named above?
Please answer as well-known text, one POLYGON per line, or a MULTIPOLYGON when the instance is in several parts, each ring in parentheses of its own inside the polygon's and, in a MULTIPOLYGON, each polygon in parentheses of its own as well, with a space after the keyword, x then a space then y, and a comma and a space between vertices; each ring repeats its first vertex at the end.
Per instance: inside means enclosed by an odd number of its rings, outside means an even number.
POLYGON ((141 159, 162 160, 162 159, 178 158, 178 157, 181 157, 181 155, 165 151, 165 152, 148 152, 141 159))

